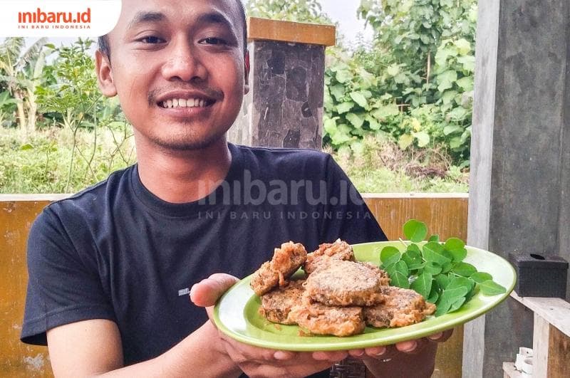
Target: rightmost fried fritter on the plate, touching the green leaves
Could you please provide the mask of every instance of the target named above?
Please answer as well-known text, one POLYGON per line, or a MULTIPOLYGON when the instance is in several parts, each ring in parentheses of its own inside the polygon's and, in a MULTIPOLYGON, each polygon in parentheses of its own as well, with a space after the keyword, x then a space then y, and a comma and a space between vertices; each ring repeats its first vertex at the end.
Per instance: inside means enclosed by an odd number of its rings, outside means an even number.
POLYGON ((363 308, 367 325, 373 327, 404 327, 421 322, 435 311, 435 305, 425 302, 414 290, 383 286, 384 303, 363 308))

